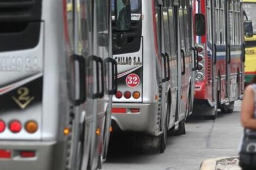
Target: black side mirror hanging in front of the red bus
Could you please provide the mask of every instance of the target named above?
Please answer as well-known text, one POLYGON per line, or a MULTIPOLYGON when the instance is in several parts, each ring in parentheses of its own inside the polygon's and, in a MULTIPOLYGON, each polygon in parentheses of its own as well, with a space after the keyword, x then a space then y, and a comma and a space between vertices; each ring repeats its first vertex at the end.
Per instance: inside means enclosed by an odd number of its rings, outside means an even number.
POLYGON ((196 31, 197 36, 205 35, 205 16, 204 14, 196 14, 194 15, 194 29, 196 31))

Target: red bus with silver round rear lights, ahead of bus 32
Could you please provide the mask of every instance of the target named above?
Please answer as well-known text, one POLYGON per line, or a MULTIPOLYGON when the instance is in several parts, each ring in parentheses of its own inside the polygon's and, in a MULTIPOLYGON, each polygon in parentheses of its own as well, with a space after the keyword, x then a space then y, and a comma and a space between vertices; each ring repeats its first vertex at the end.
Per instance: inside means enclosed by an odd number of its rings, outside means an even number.
POLYGON ((231 113, 242 98, 244 61, 239 0, 194 0, 194 40, 198 50, 194 113, 215 119, 231 113))

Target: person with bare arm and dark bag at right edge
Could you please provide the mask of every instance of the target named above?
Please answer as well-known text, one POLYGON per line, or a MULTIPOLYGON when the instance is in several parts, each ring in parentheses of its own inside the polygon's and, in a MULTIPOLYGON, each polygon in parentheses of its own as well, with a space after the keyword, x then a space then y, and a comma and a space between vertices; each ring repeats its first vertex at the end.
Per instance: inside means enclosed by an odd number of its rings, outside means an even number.
POLYGON ((240 148, 242 170, 256 169, 256 75, 245 89, 241 107, 241 123, 245 129, 240 148))

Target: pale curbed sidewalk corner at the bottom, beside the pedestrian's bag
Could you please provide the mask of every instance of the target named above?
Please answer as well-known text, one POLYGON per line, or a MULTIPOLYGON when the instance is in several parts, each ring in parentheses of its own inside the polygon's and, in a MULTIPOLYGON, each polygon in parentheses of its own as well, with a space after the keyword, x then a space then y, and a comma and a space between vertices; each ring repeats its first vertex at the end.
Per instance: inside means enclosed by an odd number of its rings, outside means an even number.
POLYGON ((239 159, 233 158, 216 158, 205 160, 200 170, 241 170, 239 159))

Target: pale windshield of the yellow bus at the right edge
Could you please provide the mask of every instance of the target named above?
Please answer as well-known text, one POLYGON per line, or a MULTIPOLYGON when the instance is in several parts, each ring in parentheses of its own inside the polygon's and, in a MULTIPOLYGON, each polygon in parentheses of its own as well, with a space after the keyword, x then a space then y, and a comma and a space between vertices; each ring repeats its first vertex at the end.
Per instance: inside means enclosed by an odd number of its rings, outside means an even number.
POLYGON ((252 20, 253 34, 256 34, 256 3, 244 3, 243 10, 245 10, 248 20, 252 20))

